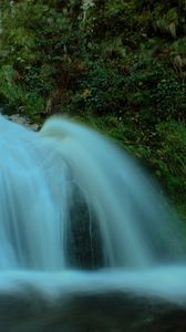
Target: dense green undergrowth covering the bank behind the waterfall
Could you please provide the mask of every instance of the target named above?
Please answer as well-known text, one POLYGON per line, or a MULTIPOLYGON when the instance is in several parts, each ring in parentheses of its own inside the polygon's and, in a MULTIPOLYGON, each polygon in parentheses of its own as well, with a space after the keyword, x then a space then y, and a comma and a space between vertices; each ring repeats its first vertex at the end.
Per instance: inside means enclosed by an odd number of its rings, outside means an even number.
POLYGON ((0 104, 102 129, 185 214, 185 0, 1 1, 0 104))

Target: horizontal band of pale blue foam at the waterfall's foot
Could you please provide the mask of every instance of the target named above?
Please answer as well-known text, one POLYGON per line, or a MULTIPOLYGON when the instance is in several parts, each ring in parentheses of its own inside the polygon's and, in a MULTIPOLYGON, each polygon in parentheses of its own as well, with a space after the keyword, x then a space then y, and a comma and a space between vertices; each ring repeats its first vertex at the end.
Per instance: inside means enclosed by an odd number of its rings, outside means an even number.
POLYGON ((146 271, 103 270, 84 272, 7 271, 0 277, 0 295, 27 295, 62 303, 74 295, 131 293, 186 305, 186 267, 168 266, 146 271))

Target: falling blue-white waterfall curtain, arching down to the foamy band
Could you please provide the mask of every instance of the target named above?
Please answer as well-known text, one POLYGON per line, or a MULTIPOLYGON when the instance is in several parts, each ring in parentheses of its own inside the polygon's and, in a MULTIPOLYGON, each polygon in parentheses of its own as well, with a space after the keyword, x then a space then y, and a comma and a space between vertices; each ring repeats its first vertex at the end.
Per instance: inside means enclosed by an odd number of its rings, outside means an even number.
POLYGON ((0 128, 1 270, 65 269, 74 186, 96 216, 110 267, 180 258, 182 241, 155 185, 100 134, 61 118, 40 133, 2 117, 0 128))

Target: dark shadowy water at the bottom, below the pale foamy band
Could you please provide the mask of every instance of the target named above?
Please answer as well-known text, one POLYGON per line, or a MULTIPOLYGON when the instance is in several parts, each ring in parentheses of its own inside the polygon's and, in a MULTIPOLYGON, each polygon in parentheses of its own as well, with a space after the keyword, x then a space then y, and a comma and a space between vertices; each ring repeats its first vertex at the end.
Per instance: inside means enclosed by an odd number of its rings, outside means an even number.
POLYGON ((186 309, 134 294, 74 294, 55 301, 29 291, 0 297, 3 332, 185 332, 186 309))

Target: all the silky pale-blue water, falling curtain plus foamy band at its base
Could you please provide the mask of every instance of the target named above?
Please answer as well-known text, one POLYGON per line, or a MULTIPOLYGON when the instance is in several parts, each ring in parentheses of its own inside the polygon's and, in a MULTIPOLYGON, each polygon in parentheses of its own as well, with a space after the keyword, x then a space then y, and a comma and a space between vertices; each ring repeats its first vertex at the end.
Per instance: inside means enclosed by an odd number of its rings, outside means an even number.
POLYGON ((0 160, 0 293, 28 283, 50 295, 127 289, 186 302, 184 231, 131 156, 65 118, 35 133, 1 116, 0 160), (101 238, 94 272, 70 263, 75 193, 90 216, 83 236, 93 246, 96 227, 101 238))

